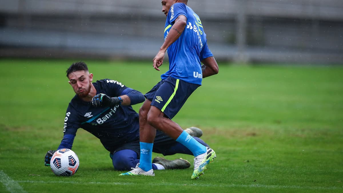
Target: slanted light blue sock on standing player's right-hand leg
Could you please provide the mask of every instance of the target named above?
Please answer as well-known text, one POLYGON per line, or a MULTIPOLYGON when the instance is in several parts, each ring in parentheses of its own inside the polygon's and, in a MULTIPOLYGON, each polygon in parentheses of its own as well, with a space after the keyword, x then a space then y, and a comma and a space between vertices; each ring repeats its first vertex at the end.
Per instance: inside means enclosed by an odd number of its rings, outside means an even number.
POLYGON ((200 144, 196 139, 194 139, 185 131, 181 133, 176 141, 186 146, 193 153, 194 156, 198 156, 206 152, 206 147, 200 144))

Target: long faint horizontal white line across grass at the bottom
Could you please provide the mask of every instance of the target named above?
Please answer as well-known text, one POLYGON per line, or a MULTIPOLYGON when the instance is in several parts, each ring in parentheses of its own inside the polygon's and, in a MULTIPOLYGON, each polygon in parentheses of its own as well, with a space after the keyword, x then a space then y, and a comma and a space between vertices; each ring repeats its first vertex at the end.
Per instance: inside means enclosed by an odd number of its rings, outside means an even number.
MULTIPOLYGON (((75 182, 75 181, 17 181, 20 183, 68 183, 68 184, 104 184, 104 185, 140 185, 137 183, 131 183, 131 182, 75 182)), ((162 183, 162 184, 156 184, 156 183, 145 183, 145 185, 151 185, 151 186, 203 186, 203 187, 211 187, 212 184, 176 184, 176 183, 162 183)), ((310 189, 310 190, 341 190, 343 188, 341 187, 318 187, 318 186, 282 186, 282 185, 262 185, 262 184, 251 184, 251 185, 244 185, 244 184, 220 184, 216 185, 217 187, 223 187, 223 188, 233 188, 233 187, 242 187, 242 188, 268 188, 268 189, 310 189)))

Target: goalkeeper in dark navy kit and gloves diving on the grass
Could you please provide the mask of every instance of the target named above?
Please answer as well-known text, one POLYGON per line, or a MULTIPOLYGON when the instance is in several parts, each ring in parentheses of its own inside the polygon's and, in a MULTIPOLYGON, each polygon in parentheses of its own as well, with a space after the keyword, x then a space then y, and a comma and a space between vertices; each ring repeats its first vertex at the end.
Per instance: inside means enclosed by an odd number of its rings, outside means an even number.
MULTIPOLYGON (((71 149, 76 131, 83 128, 100 139, 105 149, 110 152, 114 169, 131 170, 136 167, 141 151, 139 118, 131 105, 143 102, 144 95, 115 80, 103 79, 92 83, 93 74, 89 73, 83 62, 72 64, 66 72, 69 84, 76 94, 68 105, 64 118, 64 135, 57 149, 71 149)), ((202 135, 200 129, 191 127, 187 132, 206 145, 198 138, 202 135)), ((192 155, 185 146, 163 132, 157 132, 152 151, 163 155, 192 155)), ((47 152, 45 166, 50 165, 52 154, 54 150, 47 152)), ((153 162, 150 165, 155 170, 190 167, 190 163, 182 158, 167 160, 156 157, 153 162)))

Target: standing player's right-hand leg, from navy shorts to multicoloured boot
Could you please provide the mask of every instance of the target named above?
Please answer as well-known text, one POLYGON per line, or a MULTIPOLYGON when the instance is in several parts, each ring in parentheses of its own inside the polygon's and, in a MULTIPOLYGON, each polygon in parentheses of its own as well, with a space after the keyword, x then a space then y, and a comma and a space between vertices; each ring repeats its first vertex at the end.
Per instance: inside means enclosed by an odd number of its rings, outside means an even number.
POLYGON ((151 126, 176 139, 195 156, 192 179, 197 178, 206 169, 206 165, 213 161, 215 152, 200 144, 170 119, 176 115, 191 93, 198 87, 199 85, 168 77, 156 91, 156 99, 152 101, 147 115, 147 121, 151 126))

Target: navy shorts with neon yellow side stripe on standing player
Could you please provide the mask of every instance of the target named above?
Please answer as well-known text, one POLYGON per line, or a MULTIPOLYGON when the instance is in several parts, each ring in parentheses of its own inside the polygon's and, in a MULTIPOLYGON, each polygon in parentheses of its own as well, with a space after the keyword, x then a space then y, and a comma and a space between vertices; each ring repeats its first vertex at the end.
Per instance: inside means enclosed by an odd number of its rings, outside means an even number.
POLYGON ((156 106, 172 119, 199 86, 199 84, 192 84, 169 76, 165 80, 159 81, 144 96, 151 101, 151 105, 156 106))

